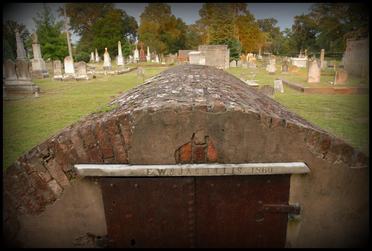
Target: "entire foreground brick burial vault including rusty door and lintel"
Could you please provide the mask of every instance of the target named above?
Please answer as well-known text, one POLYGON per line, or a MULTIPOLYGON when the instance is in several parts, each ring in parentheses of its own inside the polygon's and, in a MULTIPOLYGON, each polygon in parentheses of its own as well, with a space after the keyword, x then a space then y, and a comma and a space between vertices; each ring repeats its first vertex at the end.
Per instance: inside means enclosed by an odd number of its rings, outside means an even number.
POLYGON ((368 243, 369 157, 233 75, 181 65, 108 105, 115 102, 115 109, 84 116, 4 171, 4 245, 368 243), (296 172, 295 165, 308 171, 296 172), (136 210, 128 213, 126 205, 136 210), (165 212, 167 220, 137 216, 141 210, 165 212), (141 231, 147 234, 136 237, 141 231))

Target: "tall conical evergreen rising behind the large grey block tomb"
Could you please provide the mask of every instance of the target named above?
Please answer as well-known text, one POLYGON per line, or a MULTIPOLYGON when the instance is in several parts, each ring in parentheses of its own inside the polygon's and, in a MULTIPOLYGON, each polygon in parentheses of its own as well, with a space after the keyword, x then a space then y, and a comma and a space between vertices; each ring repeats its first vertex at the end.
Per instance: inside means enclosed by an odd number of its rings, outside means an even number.
POLYGON ((228 45, 230 62, 234 59, 236 61, 240 60, 241 45, 235 26, 234 12, 230 4, 214 4, 207 43, 209 45, 228 45))

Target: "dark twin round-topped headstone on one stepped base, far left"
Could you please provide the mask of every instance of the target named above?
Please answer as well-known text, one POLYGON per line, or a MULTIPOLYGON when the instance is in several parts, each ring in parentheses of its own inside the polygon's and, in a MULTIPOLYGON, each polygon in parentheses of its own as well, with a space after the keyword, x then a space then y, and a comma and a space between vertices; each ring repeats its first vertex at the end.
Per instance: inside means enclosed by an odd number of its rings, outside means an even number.
POLYGON ((33 91, 36 84, 33 83, 29 73, 29 64, 23 59, 17 59, 15 64, 7 59, 4 64, 5 80, 3 86, 6 91, 33 91))

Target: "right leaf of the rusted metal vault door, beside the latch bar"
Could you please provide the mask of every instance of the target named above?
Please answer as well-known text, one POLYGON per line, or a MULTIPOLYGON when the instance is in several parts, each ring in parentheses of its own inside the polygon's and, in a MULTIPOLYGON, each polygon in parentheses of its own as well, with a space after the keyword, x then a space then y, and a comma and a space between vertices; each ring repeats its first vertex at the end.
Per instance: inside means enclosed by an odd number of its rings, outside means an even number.
POLYGON ((196 246, 284 247, 287 213, 262 205, 288 205, 289 181, 290 174, 195 177, 196 246))

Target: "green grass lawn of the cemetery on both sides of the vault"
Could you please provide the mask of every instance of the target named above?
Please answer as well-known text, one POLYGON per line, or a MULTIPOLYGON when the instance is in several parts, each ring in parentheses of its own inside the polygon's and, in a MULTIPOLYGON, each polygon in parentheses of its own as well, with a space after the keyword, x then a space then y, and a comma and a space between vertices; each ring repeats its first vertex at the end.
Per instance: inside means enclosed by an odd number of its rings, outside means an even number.
MULTIPOLYGON (((328 62, 330 59, 332 58, 325 58, 328 62)), ((126 65, 132 68, 136 65, 154 64, 147 62, 126 65)), ((256 64, 261 66, 260 62, 256 64)), ((96 65, 96 71, 103 71, 101 70, 103 62, 87 63, 88 69, 89 65, 96 65)), ((111 71, 123 69, 117 68, 115 61, 112 62, 112 66, 114 68, 111 71)), ((157 67, 144 66, 145 79, 166 70, 167 66, 161 64, 157 67)), ((50 68, 51 63, 47 63, 47 67, 50 68)), ((307 87, 345 87, 328 84, 328 81, 333 81, 333 76, 321 76, 320 84, 306 84, 307 75, 297 74, 307 74, 308 68, 298 68, 297 73, 289 74, 280 74, 280 67, 276 69, 276 75, 266 75, 267 71, 260 68, 231 67, 226 71, 237 78, 240 78, 241 73, 245 73, 246 80, 250 80, 247 75, 253 72, 256 74, 253 80, 259 80, 256 83, 260 87, 264 84, 273 86, 276 78, 307 87)), ((340 68, 336 68, 336 71, 338 70, 340 68)), ((32 94, 21 100, 3 101, 3 170, 39 142, 96 111, 97 108, 105 106, 112 100, 111 95, 115 97, 120 95, 118 90, 125 93, 143 81, 137 78, 137 70, 134 70, 120 75, 98 74, 94 79, 92 74, 89 74, 89 81, 52 82, 53 71, 48 71, 50 77, 33 80, 36 86, 40 87, 42 93, 40 98, 33 98, 32 94)), ((334 70, 325 68, 321 73, 333 74, 334 70)), ((347 83, 350 86, 369 87, 368 79, 348 78, 347 83), (360 81, 366 81, 366 84, 360 86, 360 81)), ((277 102, 369 156, 369 94, 304 95, 286 86, 283 86, 283 89, 284 93, 275 93, 277 102)), ((22 96, 24 95, 8 94, 6 98, 16 99, 22 96)))

